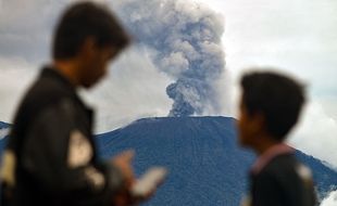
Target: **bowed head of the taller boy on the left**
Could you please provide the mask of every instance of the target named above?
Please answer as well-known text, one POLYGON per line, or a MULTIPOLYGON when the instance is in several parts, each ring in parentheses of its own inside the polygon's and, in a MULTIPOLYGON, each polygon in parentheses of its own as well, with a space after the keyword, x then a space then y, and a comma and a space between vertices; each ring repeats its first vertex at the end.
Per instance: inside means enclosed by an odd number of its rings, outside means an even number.
POLYGON ((108 62, 129 42, 116 18, 102 5, 80 2, 62 15, 53 38, 55 62, 76 62, 78 85, 90 87, 104 76, 108 62))

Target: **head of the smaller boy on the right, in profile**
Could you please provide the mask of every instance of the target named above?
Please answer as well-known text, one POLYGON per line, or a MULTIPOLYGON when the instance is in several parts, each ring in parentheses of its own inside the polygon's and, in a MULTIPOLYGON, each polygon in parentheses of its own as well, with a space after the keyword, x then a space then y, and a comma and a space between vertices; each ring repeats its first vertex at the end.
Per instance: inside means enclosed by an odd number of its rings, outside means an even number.
POLYGON ((273 72, 246 74, 240 85, 240 143, 253 146, 262 137, 283 142, 296 125, 305 101, 303 87, 273 72))

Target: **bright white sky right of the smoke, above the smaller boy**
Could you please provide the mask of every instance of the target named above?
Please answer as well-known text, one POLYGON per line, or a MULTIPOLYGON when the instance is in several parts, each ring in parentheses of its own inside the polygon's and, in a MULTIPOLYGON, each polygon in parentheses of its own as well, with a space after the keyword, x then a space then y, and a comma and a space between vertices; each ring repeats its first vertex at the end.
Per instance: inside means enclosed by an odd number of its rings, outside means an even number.
POLYGON ((234 87, 250 66, 279 67, 301 79, 310 101, 290 142, 337 166, 337 1, 204 3, 225 16, 223 44, 234 87))

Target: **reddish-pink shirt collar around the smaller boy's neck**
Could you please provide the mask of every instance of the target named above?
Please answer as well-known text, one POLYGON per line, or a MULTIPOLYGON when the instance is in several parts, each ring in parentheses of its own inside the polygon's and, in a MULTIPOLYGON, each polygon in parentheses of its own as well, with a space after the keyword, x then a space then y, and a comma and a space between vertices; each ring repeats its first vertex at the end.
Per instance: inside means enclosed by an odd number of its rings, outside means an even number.
POLYGON ((273 158, 284 154, 294 154, 294 152, 295 150, 287 144, 276 144, 258 157, 251 168, 251 172, 258 175, 273 158))

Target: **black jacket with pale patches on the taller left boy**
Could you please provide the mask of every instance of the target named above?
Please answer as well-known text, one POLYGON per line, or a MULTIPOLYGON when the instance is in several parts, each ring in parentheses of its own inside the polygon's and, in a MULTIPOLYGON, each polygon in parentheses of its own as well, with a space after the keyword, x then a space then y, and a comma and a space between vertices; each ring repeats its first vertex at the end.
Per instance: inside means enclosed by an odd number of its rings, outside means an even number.
POLYGON ((112 205, 122 173, 99 160, 91 128, 92 111, 75 88, 57 69, 45 68, 10 132, 1 205, 112 205))

